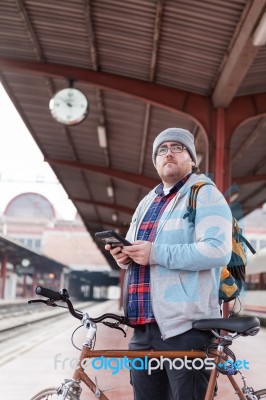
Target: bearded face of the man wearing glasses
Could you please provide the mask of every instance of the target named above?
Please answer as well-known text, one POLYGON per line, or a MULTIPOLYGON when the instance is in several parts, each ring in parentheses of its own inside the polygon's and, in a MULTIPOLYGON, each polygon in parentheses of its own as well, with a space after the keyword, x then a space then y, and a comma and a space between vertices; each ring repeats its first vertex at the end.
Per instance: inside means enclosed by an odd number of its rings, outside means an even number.
MULTIPOLYGON (((165 142, 160 147, 170 147, 176 144, 181 145, 178 142, 165 142)), ((183 149, 182 153, 173 153, 168 149, 164 155, 158 155, 157 152, 155 161, 158 175, 166 187, 175 185, 180 179, 188 175, 195 165, 186 149, 183 149)))

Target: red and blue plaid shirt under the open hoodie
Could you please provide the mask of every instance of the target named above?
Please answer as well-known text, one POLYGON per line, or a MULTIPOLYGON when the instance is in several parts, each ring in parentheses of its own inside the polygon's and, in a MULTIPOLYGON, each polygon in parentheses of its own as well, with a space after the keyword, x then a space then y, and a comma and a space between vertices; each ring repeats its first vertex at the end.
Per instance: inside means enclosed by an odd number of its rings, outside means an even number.
MULTIPOLYGON (((167 195, 164 195, 162 183, 156 188, 157 197, 142 220, 137 240, 154 242, 158 223, 165 208, 190 175, 177 182, 167 195)), ((135 262, 131 264, 128 286, 128 318, 132 325, 155 322, 151 304, 149 265, 143 266, 135 262)))

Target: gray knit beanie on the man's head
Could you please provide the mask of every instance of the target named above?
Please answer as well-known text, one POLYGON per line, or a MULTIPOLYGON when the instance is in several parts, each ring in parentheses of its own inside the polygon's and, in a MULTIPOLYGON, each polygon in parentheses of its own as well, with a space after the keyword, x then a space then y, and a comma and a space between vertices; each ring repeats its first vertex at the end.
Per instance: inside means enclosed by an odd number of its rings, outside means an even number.
POLYGON ((156 152, 162 143, 165 142, 178 142, 185 146, 191 155, 192 160, 197 165, 197 155, 194 144, 194 136, 186 129, 181 128, 168 128, 159 133, 153 142, 152 161, 155 164, 156 152))

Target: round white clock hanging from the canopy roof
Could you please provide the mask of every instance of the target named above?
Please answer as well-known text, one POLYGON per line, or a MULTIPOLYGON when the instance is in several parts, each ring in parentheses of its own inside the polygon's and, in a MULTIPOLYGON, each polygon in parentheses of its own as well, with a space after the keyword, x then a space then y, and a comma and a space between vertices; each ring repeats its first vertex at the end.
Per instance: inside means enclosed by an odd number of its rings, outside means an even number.
POLYGON ((88 114, 88 100, 80 90, 66 88, 53 96, 49 109, 57 122, 64 125, 77 125, 88 114))

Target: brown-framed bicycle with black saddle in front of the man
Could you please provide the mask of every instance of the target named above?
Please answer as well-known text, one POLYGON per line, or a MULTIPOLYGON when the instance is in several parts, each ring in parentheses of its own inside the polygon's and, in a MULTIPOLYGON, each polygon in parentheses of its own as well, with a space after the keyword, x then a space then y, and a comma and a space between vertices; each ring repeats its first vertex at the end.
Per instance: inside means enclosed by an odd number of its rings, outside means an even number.
MULTIPOLYGON (((81 382, 85 384, 94 396, 100 400, 108 400, 108 397, 104 394, 104 390, 100 390, 97 379, 95 383, 84 371, 85 366, 83 361, 94 357, 117 357, 123 358, 181 358, 181 359, 192 359, 192 360, 206 360, 206 356, 213 356, 213 368, 210 374, 210 379, 205 395, 205 400, 212 400, 215 396, 216 382, 219 373, 224 374, 229 379, 232 387, 235 390, 235 394, 238 395, 241 400, 260 400, 266 399, 266 389, 255 391, 252 387, 249 387, 246 383, 246 378, 235 365, 236 357, 229 346, 233 340, 240 336, 254 336, 259 332, 260 322, 255 317, 238 317, 238 318, 217 318, 217 319, 202 319, 195 321, 193 327, 198 330, 208 330, 213 333, 216 337, 217 343, 211 344, 206 352, 189 350, 189 351, 155 351, 155 350, 93 350, 94 342, 96 338, 97 323, 103 323, 106 326, 118 329, 126 336, 125 327, 130 326, 124 316, 119 316, 112 313, 103 314, 97 318, 90 318, 87 312, 81 312, 75 310, 72 302, 69 299, 69 294, 66 289, 62 289, 60 292, 54 292, 53 290, 38 286, 36 288, 36 294, 46 297, 46 300, 37 299, 29 300, 28 303, 42 302, 47 306, 62 307, 56 304, 57 301, 63 301, 66 303, 70 314, 81 320, 82 325, 86 328, 86 341, 83 344, 81 355, 79 358, 78 368, 75 370, 73 377, 65 379, 59 387, 47 388, 36 395, 31 400, 79 400, 82 392, 81 382), (110 322, 107 320, 113 320, 110 322), (121 327, 121 325, 125 327, 121 327), (227 333, 222 336, 220 330, 224 330, 227 333), (230 333, 228 333, 230 332, 230 333), (243 381, 243 387, 240 388, 235 381, 233 375, 240 374, 243 381)), ((109 389, 108 389, 109 390, 109 389)))

